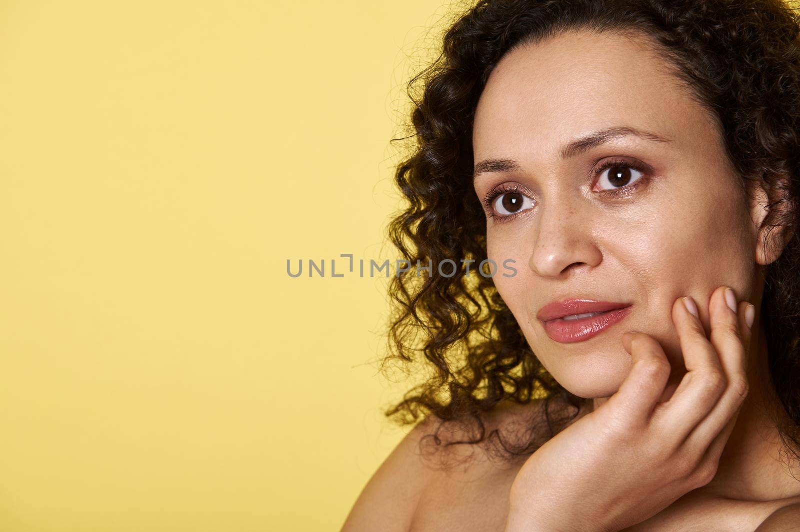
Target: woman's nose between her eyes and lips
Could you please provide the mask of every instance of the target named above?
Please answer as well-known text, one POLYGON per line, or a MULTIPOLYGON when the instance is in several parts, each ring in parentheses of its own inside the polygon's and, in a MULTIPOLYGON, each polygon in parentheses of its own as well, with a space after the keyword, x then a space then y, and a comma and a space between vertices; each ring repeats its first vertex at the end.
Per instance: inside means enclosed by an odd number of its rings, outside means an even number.
POLYGON ((602 261, 591 220, 577 208, 549 206, 538 213, 530 269, 555 279, 580 268, 594 268, 602 261))

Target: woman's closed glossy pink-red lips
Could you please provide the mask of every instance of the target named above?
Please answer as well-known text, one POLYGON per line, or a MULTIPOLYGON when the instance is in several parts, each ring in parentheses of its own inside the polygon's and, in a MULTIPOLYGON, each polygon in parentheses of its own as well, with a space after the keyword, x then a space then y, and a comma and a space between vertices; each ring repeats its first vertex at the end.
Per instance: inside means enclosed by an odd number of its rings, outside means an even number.
POLYGON ((565 300, 546 305, 538 312, 550 339, 561 343, 582 342, 600 334, 630 313, 630 304, 612 301, 565 300), (592 316, 565 319, 597 312, 592 316))

